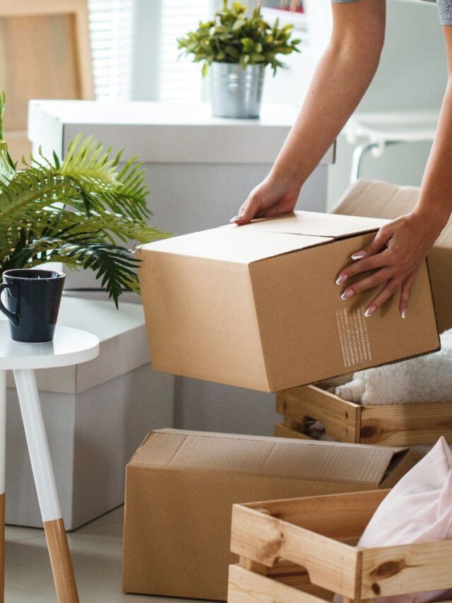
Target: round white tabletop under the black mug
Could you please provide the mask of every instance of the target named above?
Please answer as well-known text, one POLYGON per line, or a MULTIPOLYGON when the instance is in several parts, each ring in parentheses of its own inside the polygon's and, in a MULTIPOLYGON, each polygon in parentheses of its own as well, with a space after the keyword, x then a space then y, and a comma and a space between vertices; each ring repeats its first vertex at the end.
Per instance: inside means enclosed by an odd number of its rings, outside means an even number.
POLYGON ((98 354, 97 336, 81 329, 57 326, 53 341, 25 344, 13 341, 8 322, 0 322, 0 370, 68 366, 93 360, 98 354))

